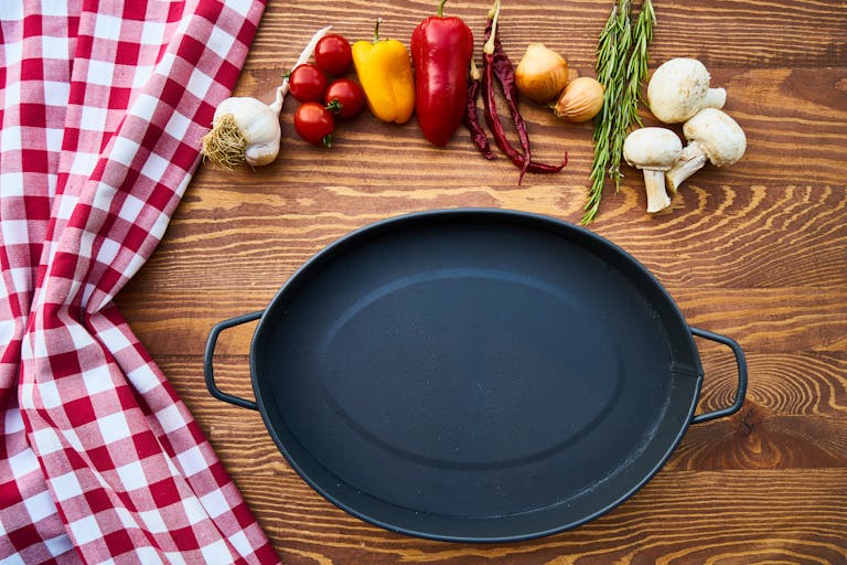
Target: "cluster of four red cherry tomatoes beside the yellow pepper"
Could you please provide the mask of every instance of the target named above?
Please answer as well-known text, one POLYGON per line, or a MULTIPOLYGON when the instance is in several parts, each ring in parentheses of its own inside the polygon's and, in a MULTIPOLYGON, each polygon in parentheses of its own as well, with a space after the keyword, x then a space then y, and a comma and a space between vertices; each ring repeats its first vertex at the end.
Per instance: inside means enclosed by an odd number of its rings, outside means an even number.
POLYGON ((314 64, 299 65, 288 76, 291 96, 302 103, 294 111, 294 129, 305 141, 331 147, 335 117, 352 118, 364 106, 362 87, 342 76, 352 63, 350 42, 329 34, 314 47, 314 64))

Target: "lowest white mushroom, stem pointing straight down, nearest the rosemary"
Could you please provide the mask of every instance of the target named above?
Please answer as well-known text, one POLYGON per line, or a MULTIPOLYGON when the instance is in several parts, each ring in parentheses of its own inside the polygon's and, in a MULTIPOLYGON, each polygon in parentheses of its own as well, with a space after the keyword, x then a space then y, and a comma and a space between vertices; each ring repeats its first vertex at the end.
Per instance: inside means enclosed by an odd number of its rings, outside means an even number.
POLYGON ((623 142, 623 158, 644 171, 647 212, 651 214, 671 205, 665 191, 665 171, 679 159, 682 151, 683 142, 665 128, 636 129, 623 142))

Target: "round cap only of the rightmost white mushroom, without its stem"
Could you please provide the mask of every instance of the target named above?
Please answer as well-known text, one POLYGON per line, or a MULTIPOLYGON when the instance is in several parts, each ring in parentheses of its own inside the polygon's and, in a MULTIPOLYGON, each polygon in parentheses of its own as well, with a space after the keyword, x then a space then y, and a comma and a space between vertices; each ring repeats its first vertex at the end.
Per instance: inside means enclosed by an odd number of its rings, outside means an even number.
POLYGON ((683 126, 685 138, 696 141, 715 167, 735 164, 747 150, 747 136, 738 122, 716 108, 704 108, 683 126))

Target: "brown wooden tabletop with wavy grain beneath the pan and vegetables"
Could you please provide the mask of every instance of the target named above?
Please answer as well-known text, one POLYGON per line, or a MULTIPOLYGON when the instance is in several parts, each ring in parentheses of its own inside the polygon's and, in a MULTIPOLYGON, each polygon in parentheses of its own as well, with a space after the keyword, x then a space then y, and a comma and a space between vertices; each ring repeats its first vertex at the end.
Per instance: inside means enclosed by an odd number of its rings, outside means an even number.
MULTIPOLYGON (((382 33, 408 44, 433 1, 270 2, 237 95, 270 102, 311 33, 328 23, 351 40, 382 33)), ((515 63, 530 42, 591 75, 609 1, 505 0, 502 38, 515 63)), ((454 1, 482 36, 487 2, 454 1)), ((282 115, 272 164, 236 172, 201 167, 149 263, 119 303, 211 438, 288 564, 847 563, 847 4, 663 2, 652 68, 696 56, 726 87, 726 110, 747 131, 735 167, 707 167, 673 206, 650 216, 641 174, 624 168, 590 228, 632 253, 687 321, 738 340, 750 367, 742 409, 691 426, 663 470, 607 515, 537 541, 463 545, 368 525, 312 491, 287 465, 258 413, 213 399, 202 354, 212 326, 262 309, 315 252, 350 231, 412 211, 491 206, 578 222, 590 125, 524 104, 538 159, 570 162, 527 175, 485 161, 461 129, 446 149, 412 119, 341 124, 331 150, 308 146, 282 115)), ((478 40, 479 61, 481 41, 478 40)), ((645 113, 648 125, 654 124, 645 113)), ((676 128, 679 131, 679 128, 676 128)), ((217 349, 221 386, 249 397, 253 327, 217 349)), ((700 409, 731 402, 735 365, 698 341, 700 409)))

